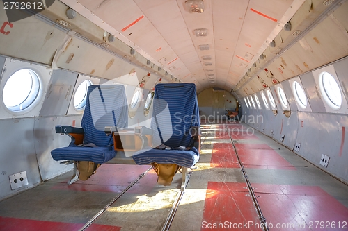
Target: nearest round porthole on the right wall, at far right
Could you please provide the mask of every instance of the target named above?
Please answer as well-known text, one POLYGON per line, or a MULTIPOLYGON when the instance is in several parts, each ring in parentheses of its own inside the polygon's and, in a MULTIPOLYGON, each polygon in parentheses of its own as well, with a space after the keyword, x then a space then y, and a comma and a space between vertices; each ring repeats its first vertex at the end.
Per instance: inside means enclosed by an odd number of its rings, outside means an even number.
POLYGON ((342 105, 342 94, 337 81, 329 72, 322 72, 319 76, 319 86, 324 100, 335 110, 342 105))

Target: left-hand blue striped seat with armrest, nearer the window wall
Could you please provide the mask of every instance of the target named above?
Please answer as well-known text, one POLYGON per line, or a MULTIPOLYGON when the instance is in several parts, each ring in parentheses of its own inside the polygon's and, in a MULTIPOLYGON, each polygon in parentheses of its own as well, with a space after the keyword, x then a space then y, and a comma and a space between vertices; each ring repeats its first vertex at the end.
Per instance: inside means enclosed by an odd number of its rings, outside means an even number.
POLYGON ((127 113, 123 85, 90 85, 81 120, 82 128, 56 126, 56 132, 69 135, 72 142, 68 147, 54 149, 51 152, 53 159, 90 161, 97 164, 111 160, 116 156, 116 151, 113 148, 112 136, 105 135, 104 127, 113 125, 126 128, 127 113), (83 140, 78 140, 81 135, 83 140))

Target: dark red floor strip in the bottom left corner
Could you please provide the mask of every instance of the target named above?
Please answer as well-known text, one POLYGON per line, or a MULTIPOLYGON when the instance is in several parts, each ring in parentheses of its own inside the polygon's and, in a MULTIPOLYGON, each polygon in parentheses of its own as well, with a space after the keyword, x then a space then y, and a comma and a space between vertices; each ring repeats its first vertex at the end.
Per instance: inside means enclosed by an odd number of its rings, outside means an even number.
MULTIPOLYGON (((29 219, 15 219, 0 216, 1 231, 74 231, 82 228, 84 224, 63 223, 53 221, 36 221, 29 219)), ((121 228, 110 225, 92 224, 87 231, 120 231, 121 228)))

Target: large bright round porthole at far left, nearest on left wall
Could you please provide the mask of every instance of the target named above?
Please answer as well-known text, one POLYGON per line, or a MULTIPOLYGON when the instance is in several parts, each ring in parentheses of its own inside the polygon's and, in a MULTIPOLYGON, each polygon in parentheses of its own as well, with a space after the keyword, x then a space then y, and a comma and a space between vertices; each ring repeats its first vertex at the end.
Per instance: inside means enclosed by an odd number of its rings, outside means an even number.
POLYGON ((20 69, 8 78, 3 87, 6 108, 18 112, 28 108, 38 97, 40 80, 31 69, 20 69))

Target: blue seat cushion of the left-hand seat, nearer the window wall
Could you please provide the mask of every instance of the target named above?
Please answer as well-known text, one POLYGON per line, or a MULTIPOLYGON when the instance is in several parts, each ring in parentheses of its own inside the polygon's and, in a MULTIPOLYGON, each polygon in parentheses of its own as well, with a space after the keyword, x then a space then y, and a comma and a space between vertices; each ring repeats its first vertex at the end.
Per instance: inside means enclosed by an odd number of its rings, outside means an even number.
POLYGON ((51 151, 54 160, 85 160, 102 164, 116 156, 113 146, 108 147, 77 147, 68 146, 51 151))

